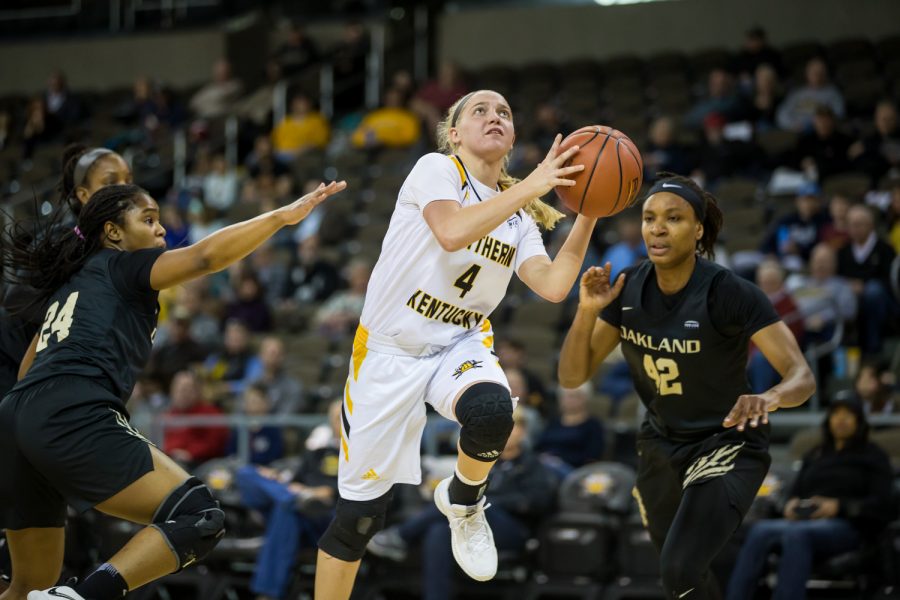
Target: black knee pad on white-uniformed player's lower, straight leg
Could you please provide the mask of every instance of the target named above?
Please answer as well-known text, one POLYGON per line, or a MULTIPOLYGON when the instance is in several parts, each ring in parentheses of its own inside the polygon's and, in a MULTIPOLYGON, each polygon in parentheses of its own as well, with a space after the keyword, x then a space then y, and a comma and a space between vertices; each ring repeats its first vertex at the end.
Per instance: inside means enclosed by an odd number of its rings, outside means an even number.
POLYGON ((369 540, 384 527, 384 517, 393 495, 391 489, 374 500, 339 498, 334 519, 319 539, 319 548, 347 562, 362 558, 369 540))

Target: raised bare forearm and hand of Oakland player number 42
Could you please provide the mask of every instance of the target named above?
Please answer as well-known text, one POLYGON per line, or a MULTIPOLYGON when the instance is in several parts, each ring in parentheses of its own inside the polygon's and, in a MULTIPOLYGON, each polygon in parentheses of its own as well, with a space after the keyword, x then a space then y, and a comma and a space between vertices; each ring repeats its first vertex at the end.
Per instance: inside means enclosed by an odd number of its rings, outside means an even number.
POLYGON ((619 344, 619 330, 603 319, 600 311, 615 300, 625 285, 625 274, 610 283, 610 263, 591 267, 581 276, 578 310, 559 354, 559 383, 575 388, 591 378, 619 344))

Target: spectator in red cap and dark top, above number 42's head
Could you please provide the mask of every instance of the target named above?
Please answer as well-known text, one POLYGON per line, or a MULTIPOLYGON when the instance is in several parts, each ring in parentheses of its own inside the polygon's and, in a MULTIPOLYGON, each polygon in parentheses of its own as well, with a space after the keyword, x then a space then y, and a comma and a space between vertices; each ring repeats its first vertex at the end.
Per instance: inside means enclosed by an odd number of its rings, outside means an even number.
POLYGON ((703 119, 703 140, 697 150, 697 164, 692 176, 714 185, 725 177, 755 177, 763 163, 763 153, 752 140, 725 135, 726 118, 709 113, 703 119))

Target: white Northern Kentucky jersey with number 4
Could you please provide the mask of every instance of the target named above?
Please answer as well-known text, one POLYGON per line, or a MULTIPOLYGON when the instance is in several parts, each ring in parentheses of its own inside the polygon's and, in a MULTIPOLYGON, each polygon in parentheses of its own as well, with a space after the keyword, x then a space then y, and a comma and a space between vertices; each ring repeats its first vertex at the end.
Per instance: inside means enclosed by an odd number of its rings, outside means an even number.
POLYGON ((422 211, 435 200, 466 207, 498 193, 469 177, 455 157, 419 159, 400 188, 369 280, 360 324, 370 347, 427 355, 488 327, 513 271, 533 256, 547 256, 537 225, 520 210, 467 248, 447 252, 422 211))

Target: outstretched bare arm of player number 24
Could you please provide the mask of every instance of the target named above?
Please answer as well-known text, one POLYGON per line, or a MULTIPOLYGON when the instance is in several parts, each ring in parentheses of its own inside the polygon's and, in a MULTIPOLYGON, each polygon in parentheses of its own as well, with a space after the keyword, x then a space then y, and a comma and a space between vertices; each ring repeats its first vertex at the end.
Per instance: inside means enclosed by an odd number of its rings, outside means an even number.
POLYGON ((235 223, 206 236, 196 244, 164 252, 153 263, 150 286, 163 290, 202 275, 221 271, 258 248, 279 229, 296 225, 328 196, 347 187, 344 181, 319 187, 293 203, 235 223))

